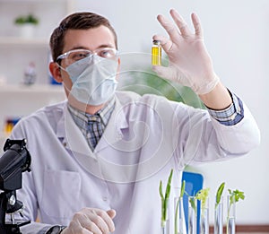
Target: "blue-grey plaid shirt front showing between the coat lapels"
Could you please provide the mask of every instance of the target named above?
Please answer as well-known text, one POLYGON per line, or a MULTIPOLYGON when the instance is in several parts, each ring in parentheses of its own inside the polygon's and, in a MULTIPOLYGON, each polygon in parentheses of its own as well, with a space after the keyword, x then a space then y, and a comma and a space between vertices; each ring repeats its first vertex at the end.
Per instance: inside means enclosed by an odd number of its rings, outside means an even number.
POLYGON ((115 98, 109 100, 107 105, 101 108, 94 115, 85 113, 77 108, 73 108, 68 104, 68 110, 74 119, 75 124, 81 129, 82 134, 87 139, 91 151, 94 150, 97 143, 108 125, 108 120, 115 108, 115 98))

